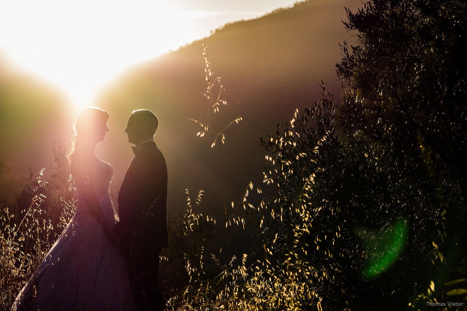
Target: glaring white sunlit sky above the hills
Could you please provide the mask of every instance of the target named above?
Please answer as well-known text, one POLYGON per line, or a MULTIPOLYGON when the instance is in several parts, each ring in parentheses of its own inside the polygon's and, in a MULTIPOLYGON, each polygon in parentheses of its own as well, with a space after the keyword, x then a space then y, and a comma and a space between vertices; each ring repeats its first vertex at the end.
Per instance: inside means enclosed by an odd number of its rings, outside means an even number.
POLYGON ((77 109, 142 60, 295 0, 0 0, 0 49, 77 109))

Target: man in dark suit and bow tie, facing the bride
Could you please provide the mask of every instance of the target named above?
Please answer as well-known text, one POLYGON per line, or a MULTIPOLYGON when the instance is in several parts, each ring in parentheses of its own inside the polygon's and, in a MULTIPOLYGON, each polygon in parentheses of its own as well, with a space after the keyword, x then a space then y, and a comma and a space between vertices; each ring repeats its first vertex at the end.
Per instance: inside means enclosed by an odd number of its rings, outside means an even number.
POLYGON ((133 111, 125 133, 134 157, 118 194, 120 221, 114 232, 127 257, 140 310, 160 310, 159 253, 167 247, 167 165, 154 142, 159 122, 149 110, 133 111))

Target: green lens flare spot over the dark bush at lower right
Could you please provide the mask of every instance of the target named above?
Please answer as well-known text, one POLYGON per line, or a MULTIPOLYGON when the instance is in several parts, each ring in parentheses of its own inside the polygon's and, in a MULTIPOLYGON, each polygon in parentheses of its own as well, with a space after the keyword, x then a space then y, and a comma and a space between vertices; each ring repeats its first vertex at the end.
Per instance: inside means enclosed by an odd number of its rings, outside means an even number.
POLYGON ((375 279, 396 262, 406 244, 408 229, 408 221, 402 219, 387 224, 380 230, 356 228, 355 231, 365 247, 362 278, 375 279))

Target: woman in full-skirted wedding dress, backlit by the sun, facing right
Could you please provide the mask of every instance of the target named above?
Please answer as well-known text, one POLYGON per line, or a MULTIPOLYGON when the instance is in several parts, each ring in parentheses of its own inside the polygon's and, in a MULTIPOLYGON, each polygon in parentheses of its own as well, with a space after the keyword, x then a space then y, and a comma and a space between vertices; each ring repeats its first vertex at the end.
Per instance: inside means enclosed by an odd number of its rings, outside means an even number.
POLYGON ((69 155, 78 193, 76 214, 16 297, 20 310, 136 310, 125 256, 116 243, 109 185, 113 167, 95 154, 109 114, 85 108, 74 125, 69 155))

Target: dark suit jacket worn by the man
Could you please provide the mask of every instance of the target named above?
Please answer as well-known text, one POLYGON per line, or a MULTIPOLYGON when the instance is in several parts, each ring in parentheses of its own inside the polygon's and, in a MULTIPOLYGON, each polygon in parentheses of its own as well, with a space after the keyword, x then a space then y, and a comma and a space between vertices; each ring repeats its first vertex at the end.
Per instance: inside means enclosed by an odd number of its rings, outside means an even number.
POLYGON ((168 247, 167 164, 155 142, 143 144, 128 167, 118 210, 114 232, 126 252, 132 242, 141 255, 168 247))

